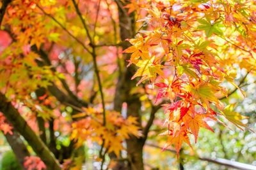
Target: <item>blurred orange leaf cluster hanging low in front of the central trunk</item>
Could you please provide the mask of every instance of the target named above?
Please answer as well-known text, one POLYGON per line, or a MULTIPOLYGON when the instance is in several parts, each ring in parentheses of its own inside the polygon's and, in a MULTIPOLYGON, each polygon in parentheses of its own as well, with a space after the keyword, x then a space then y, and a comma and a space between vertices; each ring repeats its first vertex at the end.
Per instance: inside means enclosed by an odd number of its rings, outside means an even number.
POLYGON ((129 139, 129 135, 140 136, 136 118, 125 119, 116 111, 107 111, 105 126, 102 126, 102 110, 86 108, 84 113, 75 117, 85 117, 72 124, 71 139, 77 141, 77 146, 83 145, 84 141, 92 141, 104 146, 106 152, 119 156, 122 143, 129 139))

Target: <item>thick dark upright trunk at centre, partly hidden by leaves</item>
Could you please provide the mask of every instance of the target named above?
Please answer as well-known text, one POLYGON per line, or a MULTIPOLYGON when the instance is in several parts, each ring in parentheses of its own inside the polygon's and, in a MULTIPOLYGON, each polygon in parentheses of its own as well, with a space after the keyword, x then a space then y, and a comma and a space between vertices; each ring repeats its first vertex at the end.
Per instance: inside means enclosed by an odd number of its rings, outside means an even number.
MULTIPOLYGON (((120 38, 125 42, 125 39, 132 38, 134 36, 134 13, 130 15, 127 13, 127 9, 124 8, 125 4, 129 3, 129 1, 118 1, 116 0, 116 4, 118 6, 118 15, 119 15, 119 27, 120 27, 120 38)), ((129 47, 130 44, 126 41, 126 43, 122 44, 123 50, 129 47)), ((120 71, 120 75, 118 76, 118 83, 116 85, 116 93, 114 99, 114 110, 121 111, 122 103, 127 103, 127 116, 133 116, 138 118, 139 125, 141 126, 141 101, 140 96, 138 94, 131 94, 131 89, 136 87, 136 80, 131 80, 133 74, 136 72, 136 68, 132 65, 126 67, 126 60, 129 59, 128 54, 124 54, 122 58, 122 62, 124 65, 124 70, 120 71)), ((135 136, 131 136, 127 141, 127 157, 129 159, 128 169, 138 169, 143 170, 143 140, 140 138, 136 138, 135 136)), ((124 166, 124 164, 123 164, 124 166)), ((120 164, 115 169, 125 169, 120 168, 120 164)))

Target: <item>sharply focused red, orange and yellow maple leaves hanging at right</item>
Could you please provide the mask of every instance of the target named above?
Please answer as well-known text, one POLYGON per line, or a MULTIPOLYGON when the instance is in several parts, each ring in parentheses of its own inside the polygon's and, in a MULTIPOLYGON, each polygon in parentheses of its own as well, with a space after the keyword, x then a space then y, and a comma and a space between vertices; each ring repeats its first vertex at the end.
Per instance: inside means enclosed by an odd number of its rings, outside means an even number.
MULTIPOLYGON (((255 69, 256 22, 252 4, 248 1, 143 4, 148 15, 140 22, 147 23, 148 29, 129 39, 132 46, 124 52, 132 53, 129 62, 138 67, 132 78, 141 77, 138 84, 150 80, 153 87, 156 85, 159 88, 156 102, 164 97, 171 101, 164 104, 168 115, 165 121, 168 131, 163 133, 168 141, 164 148, 173 144, 179 155, 182 142, 190 145, 188 134, 193 134, 196 141, 201 127, 213 131, 205 121, 221 122, 217 115, 245 127, 241 123, 244 117, 233 111, 233 105, 225 106, 220 99, 228 96, 221 85, 223 81, 236 85, 233 82, 236 74, 230 72, 234 63, 227 60, 232 60, 231 53, 252 63, 246 65, 248 71, 255 69), (226 45, 221 45, 218 38, 224 39, 226 45), (238 47, 227 40, 235 38, 238 47), (228 53, 228 58, 223 52, 228 53)), ((132 6, 127 8, 132 11, 132 6)))

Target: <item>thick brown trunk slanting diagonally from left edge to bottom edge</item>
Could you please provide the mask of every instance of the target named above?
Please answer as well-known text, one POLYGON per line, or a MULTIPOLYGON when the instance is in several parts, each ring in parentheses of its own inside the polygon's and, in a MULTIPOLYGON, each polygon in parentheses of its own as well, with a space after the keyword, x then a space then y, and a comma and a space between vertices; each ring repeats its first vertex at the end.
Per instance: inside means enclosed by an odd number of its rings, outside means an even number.
POLYGON ((29 127, 26 120, 20 116, 12 103, 8 102, 4 94, 0 93, 0 111, 13 125, 13 127, 28 141, 29 145, 33 148, 36 155, 40 157, 48 169, 61 169, 59 162, 55 159, 54 155, 50 152, 49 148, 45 146, 44 142, 36 136, 35 132, 29 127))

